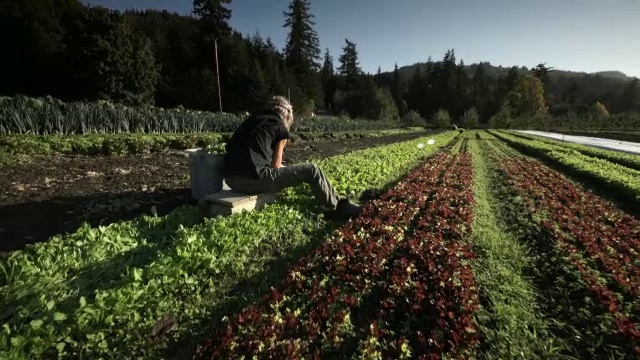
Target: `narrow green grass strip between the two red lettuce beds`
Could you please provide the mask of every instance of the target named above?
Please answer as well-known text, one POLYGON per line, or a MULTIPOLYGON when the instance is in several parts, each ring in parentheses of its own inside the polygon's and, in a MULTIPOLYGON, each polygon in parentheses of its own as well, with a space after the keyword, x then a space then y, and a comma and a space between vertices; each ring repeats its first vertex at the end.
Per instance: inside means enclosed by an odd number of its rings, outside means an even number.
POLYGON ((523 275, 532 260, 528 248, 501 223, 491 186, 495 174, 480 141, 470 141, 476 200, 472 241, 478 255, 473 267, 484 298, 477 316, 485 335, 480 354, 485 359, 547 358, 556 347, 545 335, 534 288, 523 275))

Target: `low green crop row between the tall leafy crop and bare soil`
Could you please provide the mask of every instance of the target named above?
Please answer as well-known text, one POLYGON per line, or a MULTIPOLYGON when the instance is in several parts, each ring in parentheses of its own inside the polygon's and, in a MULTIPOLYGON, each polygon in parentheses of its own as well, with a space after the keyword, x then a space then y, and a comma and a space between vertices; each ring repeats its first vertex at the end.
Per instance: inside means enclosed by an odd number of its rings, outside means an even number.
MULTIPOLYGON (((296 140, 339 140, 380 137, 424 131, 423 128, 377 131, 293 133, 296 140)), ((138 155, 190 148, 221 149, 231 133, 113 134, 113 135, 12 135, 0 136, 0 153, 7 155, 138 155)))

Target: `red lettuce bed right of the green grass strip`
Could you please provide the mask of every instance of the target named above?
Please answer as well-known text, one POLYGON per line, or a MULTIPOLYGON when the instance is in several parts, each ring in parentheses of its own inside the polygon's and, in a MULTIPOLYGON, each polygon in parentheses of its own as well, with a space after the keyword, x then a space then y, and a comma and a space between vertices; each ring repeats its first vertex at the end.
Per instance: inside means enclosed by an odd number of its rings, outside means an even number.
POLYGON ((640 353, 640 223, 536 161, 505 157, 500 165, 531 212, 546 214, 539 224, 640 353))

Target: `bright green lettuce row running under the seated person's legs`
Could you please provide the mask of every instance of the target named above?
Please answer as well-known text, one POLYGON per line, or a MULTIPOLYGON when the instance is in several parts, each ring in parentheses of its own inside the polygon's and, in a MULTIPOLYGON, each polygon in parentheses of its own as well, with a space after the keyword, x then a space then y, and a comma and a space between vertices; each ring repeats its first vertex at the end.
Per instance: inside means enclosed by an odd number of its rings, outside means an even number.
MULTIPOLYGON (((358 196, 396 181, 457 135, 317 164, 341 194, 358 196)), ((167 344, 206 336, 203 327, 225 315, 215 313, 227 296, 218 288, 262 268, 251 261, 261 246, 286 252, 308 241, 324 222, 314 204, 305 185, 260 212, 202 220, 202 206, 186 206, 164 217, 84 226, 14 252, 0 260, 0 358, 164 357, 167 344)))

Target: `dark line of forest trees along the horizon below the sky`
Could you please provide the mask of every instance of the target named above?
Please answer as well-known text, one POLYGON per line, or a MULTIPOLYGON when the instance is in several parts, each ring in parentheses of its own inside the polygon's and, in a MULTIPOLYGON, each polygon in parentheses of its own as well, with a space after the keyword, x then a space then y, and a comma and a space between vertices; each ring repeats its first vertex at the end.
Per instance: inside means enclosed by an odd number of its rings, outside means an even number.
POLYGON ((185 16, 118 12, 78 0, 12 0, 0 25, 12 34, 3 40, 8 62, 0 94, 209 111, 220 110, 220 95, 224 112, 250 111, 285 94, 303 115, 324 110, 412 125, 640 112, 637 78, 602 86, 603 77, 565 79, 546 64, 500 73, 488 63, 466 66, 454 50, 410 71, 396 65, 368 74, 349 39, 337 64, 322 51, 309 0, 283 9, 283 49, 260 33, 234 31, 230 2, 194 0, 193 14, 185 16))

